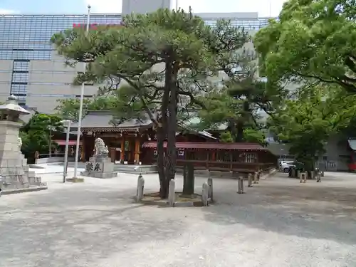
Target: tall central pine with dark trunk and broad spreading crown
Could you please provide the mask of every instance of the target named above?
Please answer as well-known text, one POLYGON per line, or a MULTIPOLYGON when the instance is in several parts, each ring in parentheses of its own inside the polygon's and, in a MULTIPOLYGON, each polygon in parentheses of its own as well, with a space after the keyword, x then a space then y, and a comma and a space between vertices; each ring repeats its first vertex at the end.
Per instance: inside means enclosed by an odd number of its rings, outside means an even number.
POLYGON ((52 38, 58 52, 71 65, 89 63, 85 75, 78 75, 78 82, 102 83, 109 78, 115 82, 107 90, 120 91, 116 86, 120 80, 134 90, 120 95, 122 100, 130 98, 134 108, 125 101, 121 104, 126 105, 131 115, 140 108, 155 124, 163 198, 167 197, 169 180, 175 175, 179 98, 191 106, 202 105, 192 93, 193 88, 199 88, 195 82, 214 75, 216 62, 246 41, 244 33, 229 27, 228 22, 222 21, 213 29, 192 12, 160 9, 152 14, 126 16, 122 28, 98 27, 88 36, 83 30, 71 29, 52 38), (191 80, 196 86, 187 86, 182 80, 191 80))

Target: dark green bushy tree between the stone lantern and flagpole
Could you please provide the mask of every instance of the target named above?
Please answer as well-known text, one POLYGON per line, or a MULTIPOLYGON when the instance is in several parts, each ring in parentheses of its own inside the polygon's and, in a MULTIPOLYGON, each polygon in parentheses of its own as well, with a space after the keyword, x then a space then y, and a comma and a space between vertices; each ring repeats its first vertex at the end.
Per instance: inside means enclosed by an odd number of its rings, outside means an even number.
POLYGON ((48 154, 49 146, 56 146, 56 143, 50 141, 51 132, 62 130, 61 117, 45 114, 33 115, 28 123, 20 129, 19 136, 22 139, 23 155, 31 162, 36 151, 40 154, 48 154))

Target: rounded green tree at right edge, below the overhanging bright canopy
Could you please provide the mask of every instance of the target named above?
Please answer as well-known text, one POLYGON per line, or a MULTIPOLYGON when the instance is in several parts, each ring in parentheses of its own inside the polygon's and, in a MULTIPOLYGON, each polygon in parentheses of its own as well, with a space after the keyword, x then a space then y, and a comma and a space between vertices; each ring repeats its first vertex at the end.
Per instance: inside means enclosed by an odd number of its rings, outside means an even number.
POLYGON ((356 96, 345 98, 340 88, 325 86, 300 90, 296 99, 286 100, 269 121, 272 132, 282 142, 289 142, 290 154, 307 170, 312 170, 325 152, 330 135, 347 127, 356 115, 356 96))

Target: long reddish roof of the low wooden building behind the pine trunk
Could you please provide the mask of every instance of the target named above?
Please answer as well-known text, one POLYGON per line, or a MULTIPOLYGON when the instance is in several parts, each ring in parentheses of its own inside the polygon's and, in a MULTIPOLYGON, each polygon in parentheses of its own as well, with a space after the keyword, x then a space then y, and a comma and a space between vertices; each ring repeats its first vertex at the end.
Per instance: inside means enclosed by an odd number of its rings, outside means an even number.
MULTIPOLYGON (((157 147, 157 142, 145 142, 142 147, 155 148, 157 147)), ((164 142, 164 147, 167 147, 167 142, 164 142)), ((253 143, 176 142, 176 147, 177 149, 267 151, 265 147, 253 143)))

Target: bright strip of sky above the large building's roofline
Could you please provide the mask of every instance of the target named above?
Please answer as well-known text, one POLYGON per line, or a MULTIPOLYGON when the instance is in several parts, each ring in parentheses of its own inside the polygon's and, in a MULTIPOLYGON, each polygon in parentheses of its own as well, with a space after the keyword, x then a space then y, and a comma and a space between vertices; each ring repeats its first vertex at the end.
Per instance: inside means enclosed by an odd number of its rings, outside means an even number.
MULTIPOLYGON (((150 0, 147 0, 150 1, 150 0)), ((172 0, 174 6, 177 0, 172 0)), ((194 13, 258 12, 259 16, 278 16, 286 0, 178 0, 178 6, 194 13)), ((120 13, 120 0, 0 0, 0 14, 86 13, 87 5, 95 13, 120 13)))

